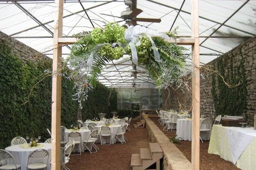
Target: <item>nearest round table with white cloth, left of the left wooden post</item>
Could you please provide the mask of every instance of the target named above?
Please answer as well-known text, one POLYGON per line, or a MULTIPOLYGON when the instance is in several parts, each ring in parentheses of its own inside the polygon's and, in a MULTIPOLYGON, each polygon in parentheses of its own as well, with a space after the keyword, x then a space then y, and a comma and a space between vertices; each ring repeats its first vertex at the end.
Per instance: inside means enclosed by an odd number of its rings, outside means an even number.
POLYGON ((45 149, 49 153, 47 170, 50 170, 51 169, 51 165, 50 165, 51 144, 50 143, 41 143, 41 144, 42 144, 41 147, 30 147, 30 148, 23 148, 23 147, 20 147, 20 144, 17 144, 17 145, 6 147, 5 150, 7 150, 9 153, 12 154, 13 159, 15 160, 16 164, 20 164, 20 170, 26 170, 29 154, 32 151, 37 150, 37 149, 45 149))

